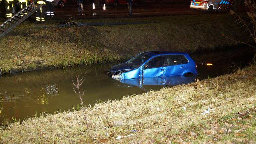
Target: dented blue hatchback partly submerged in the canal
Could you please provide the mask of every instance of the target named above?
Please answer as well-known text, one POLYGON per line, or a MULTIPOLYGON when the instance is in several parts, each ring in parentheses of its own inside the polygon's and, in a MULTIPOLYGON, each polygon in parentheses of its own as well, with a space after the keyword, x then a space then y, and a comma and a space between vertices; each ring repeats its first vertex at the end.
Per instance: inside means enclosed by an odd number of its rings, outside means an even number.
POLYGON ((108 74, 114 79, 176 76, 197 74, 196 67, 194 60, 185 52, 147 51, 111 67, 108 74))

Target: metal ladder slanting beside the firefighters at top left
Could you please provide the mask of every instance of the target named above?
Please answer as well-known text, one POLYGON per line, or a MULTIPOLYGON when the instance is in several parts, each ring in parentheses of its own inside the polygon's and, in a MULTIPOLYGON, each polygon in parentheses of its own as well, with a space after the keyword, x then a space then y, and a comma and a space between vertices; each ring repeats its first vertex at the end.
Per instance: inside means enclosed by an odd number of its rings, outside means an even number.
POLYGON ((33 13, 35 13, 38 9, 40 9, 41 6, 42 5, 37 5, 36 3, 32 2, 27 7, 23 8, 18 13, 16 13, 11 18, 2 23, 0 25, 0 38, 6 35, 8 32, 10 32, 14 27, 22 23, 33 13))

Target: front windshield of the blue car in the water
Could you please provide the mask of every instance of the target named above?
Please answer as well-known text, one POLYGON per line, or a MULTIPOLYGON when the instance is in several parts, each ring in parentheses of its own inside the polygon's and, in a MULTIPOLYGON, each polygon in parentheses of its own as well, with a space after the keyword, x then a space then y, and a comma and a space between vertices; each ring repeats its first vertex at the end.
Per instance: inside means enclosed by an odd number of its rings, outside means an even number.
POLYGON ((151 56, 147 55, 148 53, 141 53, 129 61, 127 61, 125 64, 132 66, 132 67, 140 67, 141 64, 143 64, 145 61, 147 61, 151 56))

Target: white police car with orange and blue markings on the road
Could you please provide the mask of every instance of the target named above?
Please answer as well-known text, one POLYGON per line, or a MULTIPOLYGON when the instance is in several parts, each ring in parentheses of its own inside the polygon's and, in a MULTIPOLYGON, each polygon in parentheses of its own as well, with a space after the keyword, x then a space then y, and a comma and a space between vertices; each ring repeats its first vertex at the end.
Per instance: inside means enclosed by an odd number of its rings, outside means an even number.
POLYGON ((203 10, 226 10, 232 7, 231 0, 191 0, 190 8, 203 10))

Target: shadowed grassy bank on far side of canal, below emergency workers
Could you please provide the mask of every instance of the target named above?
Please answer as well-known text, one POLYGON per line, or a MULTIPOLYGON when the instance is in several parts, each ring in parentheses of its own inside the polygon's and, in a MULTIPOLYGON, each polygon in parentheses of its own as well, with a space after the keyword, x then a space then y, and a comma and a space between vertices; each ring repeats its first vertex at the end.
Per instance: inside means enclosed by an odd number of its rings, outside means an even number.
MULTIPOLYGON (((221 35, 244 41, 235 18, 223 15, 91 19, 78 22, 150 22, 119 26, 36 27, 25 21, 0 39, 2 73, 70 67, 127 59, 147 50, 196 52, 230 43, 221 35), (9 71, 10 70, 10 71, 9 71)), ((48 21, 46 25, 55 25, 48 21)))

